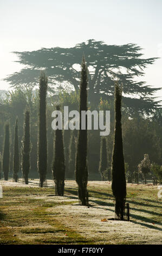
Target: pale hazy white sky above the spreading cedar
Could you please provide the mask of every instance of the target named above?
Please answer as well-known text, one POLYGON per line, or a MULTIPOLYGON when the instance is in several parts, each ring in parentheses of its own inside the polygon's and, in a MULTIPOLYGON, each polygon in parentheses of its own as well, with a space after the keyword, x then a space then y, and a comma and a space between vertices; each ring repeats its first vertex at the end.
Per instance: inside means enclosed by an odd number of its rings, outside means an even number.
MULTIPOLYGON (((162 0, 0 0, 0 79, 19 71, 12 51, 73 47, 88 39, 135 43, 161 57, 141 80, 162 87, 162 0)), ((0 81, 0 89, 9 84, 0 81)), ((162 90, 157 96, 162 96, 162 90)))

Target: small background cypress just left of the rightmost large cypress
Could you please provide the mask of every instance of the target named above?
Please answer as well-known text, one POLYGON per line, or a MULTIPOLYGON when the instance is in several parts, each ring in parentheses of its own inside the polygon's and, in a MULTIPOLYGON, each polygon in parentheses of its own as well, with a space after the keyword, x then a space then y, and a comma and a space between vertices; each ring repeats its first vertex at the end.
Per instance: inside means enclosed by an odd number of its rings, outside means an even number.
POLYGON ((101 174, 102 180, 105 180, 104 173, 106 172, 107 168, 108 168, 108 162, 107 162, 106 138, 104 136, 102 136, 101 143, 100 143, 100 165, 99 165, 99 172, 101 174))

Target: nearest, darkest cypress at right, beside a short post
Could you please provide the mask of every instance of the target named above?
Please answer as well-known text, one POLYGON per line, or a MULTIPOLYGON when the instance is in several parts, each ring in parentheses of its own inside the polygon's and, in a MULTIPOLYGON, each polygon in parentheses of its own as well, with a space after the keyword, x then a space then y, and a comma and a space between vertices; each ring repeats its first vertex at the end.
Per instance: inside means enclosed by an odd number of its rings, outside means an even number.
POLYGON ((122 147, 121 127, 121 97, 122 89, 115 83, 115 129, 112 154, 112 191, 115 197, 115 214, 120 220, 124 220, 126 199, 125 162, 122 147))

